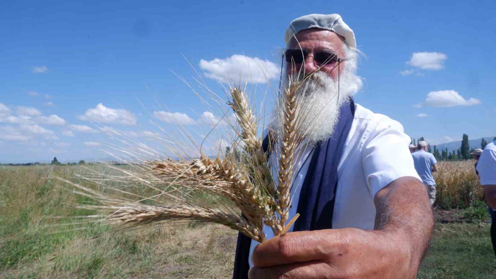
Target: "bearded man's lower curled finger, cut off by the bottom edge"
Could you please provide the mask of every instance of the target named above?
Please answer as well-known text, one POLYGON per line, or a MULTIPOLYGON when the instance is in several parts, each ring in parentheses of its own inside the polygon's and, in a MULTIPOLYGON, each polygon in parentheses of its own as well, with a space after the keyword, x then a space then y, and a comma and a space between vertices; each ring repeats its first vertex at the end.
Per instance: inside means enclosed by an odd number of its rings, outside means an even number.
POLYGON ((334 278, 329 265, 312 261, 306 263, 296 263, 290 265, 280 265, 273 267, 252 267, 249 269, 249 279, 271 279, 271 278, 291 278, 291 279, 312 279, 312 278, 334 278))

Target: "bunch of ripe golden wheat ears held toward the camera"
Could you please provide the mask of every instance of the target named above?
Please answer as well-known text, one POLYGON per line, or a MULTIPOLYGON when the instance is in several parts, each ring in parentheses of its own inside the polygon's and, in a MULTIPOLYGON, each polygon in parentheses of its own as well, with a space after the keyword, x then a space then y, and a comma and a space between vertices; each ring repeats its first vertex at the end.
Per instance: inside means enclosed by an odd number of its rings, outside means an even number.
MULTIPOLYGON (((83 177, 101 185, 105 180, 119 181, 125 186, 140 184, 152 189, 151 197, 117 187, 93 190, 66 182, 78 189, 77 194, 98 202, 78 207, 100 212, 89 216, 100 223, 137 226, 158 221, 215 222, 263 242, 266 239, 264 224, 278 235, 286 232, 298 217, 297 214, 288 221, 294 158, 303 139, 303 135, 296 132, 303 108, 296 93, 300 86, 301 82, 290 82, 278 99, 277 107, 283 110, 279 115, 283 117, 275 121, 281 129, 270 132, 273 144, 269 144, 266 152, 262 150, 262 138, 257 132, 262 117, 257 119, 254 115, 245 90, 230 87, 227 105, 234 112, 239 129, 234 129, 237 138, 226 154, 211 158, 200 150, 197 158, 140 158, 139 162, 132 162, 138 170, 114 167, 124 176, 83 177), (276 179, 271 174, 269 153, 277 156, 276 179)), ((130 154, 125 148, 114 148, 130 154)), ((143 145, 138 149, 142 154, 151 152, 143 145)))

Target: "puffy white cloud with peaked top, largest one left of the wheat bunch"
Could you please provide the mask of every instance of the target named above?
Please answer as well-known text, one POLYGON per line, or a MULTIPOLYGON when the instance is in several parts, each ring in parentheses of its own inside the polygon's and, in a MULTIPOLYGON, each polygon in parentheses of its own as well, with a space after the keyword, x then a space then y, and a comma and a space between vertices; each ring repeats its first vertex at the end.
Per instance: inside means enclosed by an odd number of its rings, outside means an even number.
POLYGON ((89 109, 84 113, 84 116, 78 117, 80 120, 102 122, 102 123, 117 123, 123 125, 136 125, 136 116, 124 109, 111 109, 98 104, 94 109, 89 109))

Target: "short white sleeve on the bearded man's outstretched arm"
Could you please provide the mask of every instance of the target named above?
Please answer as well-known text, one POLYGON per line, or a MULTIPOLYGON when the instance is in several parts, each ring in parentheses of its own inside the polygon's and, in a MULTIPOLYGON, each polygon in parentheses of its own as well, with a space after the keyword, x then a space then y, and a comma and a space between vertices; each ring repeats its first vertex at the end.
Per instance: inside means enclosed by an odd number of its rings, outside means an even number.
POLYGON ((404 176, 413 176, 422 181, 415 170, 408 148, 410 137, 403 126, 383 116, 370 133, 363 147, 363 167, 367 186, 372 197, 389 183, 404 176))

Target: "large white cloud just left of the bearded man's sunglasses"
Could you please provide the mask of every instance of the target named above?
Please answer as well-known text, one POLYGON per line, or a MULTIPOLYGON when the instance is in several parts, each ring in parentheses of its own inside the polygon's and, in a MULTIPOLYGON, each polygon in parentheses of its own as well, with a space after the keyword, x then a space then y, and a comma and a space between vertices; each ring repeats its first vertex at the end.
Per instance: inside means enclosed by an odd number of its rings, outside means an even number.
POLYGON ((233 55, 226 59, 200 60, 200 69, 206 77, 220 82, 266 83, 279 77, 280 68, 268 60, 244 55, 233 55))

